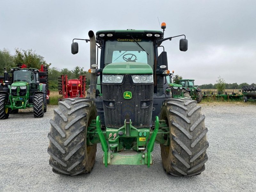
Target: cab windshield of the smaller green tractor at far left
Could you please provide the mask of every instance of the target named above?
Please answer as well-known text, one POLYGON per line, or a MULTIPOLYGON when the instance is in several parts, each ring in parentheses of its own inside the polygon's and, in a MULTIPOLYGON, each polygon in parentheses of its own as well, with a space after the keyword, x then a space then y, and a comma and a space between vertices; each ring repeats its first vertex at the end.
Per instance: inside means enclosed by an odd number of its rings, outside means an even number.
POLYGON ((13 72, 13 82, 25 81, 28 83, 36 83, 34 72, 27 69, 16 70, 13 72))

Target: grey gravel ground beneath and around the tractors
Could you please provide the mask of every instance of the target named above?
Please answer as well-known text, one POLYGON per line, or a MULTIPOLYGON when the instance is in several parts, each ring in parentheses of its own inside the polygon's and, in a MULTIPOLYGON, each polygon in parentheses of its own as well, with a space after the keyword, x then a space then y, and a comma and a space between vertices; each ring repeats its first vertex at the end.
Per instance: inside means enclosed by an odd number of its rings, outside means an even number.
POLYGON ((54 174, 47 153, 53 108, 48 106, 44 118, 36 119, 28 110, 1 120, 0 191, 255 191, 255 105, 203 105, 209 159, 201 175, 188 178, 164 172, 159 145, 154 148, 151 168, 105 168, 99 144, 90 174, 54 174))

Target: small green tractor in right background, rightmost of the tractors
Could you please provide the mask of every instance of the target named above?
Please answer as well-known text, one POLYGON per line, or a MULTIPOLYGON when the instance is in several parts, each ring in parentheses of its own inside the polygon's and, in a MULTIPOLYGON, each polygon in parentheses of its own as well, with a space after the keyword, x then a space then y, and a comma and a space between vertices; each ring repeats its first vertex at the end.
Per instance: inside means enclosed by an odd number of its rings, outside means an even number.
POLYGON ((194 86, 194 81, 194 79, 181 79, 179 84, 183 87, 185 96, 188 93, 188 97, 190 96, 197 103, 200 103, 203 99, 202 90, 194 86))

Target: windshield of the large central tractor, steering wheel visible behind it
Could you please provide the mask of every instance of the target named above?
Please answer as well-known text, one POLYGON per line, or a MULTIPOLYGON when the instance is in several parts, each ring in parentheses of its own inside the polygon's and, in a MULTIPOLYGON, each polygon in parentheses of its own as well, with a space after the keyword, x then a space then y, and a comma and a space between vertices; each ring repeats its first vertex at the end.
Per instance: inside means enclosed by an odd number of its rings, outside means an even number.
POLYGON ((153 68, 153 41, 140 39, 107 40, 105 42, 104 67, 109 63, 117 62, 142 62, 148 63, 153 68))

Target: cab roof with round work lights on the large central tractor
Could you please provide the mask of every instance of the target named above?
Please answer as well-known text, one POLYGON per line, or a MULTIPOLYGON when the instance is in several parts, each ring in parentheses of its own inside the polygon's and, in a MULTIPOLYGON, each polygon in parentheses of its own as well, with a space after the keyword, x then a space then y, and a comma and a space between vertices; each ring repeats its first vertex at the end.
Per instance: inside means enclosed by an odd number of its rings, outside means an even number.
POLYGON ((162 31, 155 31, 155 30, 134 30, 134 29, 103 30, 103 31, 97 31, 96 32, 96 39, 97 40, 115 39, 115 38, 132 38, 131 36, 133 38, 143 38, 143 39, 162 39, 163 38, 163 32, 162 31), (101 35, 101 34, 104 34, 104 36, 101 35), (112 34, 113 36, 108 35, 108 34, 112 34), (147 34, 152 34, 152 36, 147 36, 147 34))

